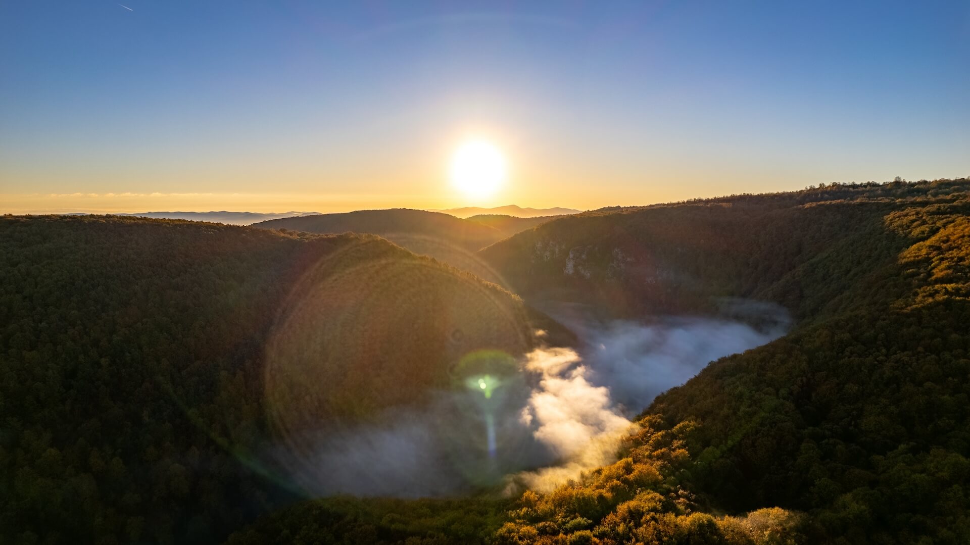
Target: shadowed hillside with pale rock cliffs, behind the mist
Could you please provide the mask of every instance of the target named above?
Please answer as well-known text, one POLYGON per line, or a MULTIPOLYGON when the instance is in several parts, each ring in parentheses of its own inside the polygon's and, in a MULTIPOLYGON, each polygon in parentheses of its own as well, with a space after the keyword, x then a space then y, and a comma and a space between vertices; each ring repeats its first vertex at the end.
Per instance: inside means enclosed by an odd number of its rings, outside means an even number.
MULTIPOLYGON (((797 317, 880 305, 904 289, 909 244, 887 227, 913 207, 959 209, 965 180, 829 186, 571 215, 480 252, 531 301, 639 316, 774 301, 797 317), (913 202, 919 200, 918 202, 913 202)), ((955 212, 954 212, 955 213, 955 212)))

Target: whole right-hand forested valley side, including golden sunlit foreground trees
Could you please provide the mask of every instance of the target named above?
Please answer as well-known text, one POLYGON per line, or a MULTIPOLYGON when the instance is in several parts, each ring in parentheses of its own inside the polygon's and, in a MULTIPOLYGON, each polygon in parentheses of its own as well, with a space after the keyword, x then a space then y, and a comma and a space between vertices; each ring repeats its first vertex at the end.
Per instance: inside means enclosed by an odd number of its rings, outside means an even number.
POLYGON ((309 502, 233 542, 970 542, 968 212, 965 179, 837 184, 598 210, 490 246, 527 301, 635 317, 745 298, 797 322, 663 394, 619 462, 553 493, 431 520, 309 502))

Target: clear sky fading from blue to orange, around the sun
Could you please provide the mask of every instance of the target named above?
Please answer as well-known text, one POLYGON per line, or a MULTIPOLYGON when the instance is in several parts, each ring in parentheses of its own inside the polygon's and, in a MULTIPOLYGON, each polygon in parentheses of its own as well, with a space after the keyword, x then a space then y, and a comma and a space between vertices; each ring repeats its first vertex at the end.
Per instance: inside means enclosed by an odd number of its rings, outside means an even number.
POLYGON ((122 4, 0 3, 0 211, 598 208, 970 175, 965 1, 122 4), (508 158, 490 200, 446 179, 469 135, 508 158))

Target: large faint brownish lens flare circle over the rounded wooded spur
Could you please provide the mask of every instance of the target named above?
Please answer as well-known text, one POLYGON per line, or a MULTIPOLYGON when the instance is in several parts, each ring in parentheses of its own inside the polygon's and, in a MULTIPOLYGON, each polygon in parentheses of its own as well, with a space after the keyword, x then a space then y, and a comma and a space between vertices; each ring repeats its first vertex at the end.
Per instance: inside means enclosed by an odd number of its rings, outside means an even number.
POLYGON ((487 413, 511 393, 510 354, 531 346, 523 309, 496 286, 375 237, 315 244, 265 345, 267 459, 280 478, 307 497, 434 496, 453 477, 496 482, 508 471, 494 453, 510 433, 497 422, 489 435, 487 413), (453 416, 429 420, 429 407, 453 416), (389 448, 409 454, 382 472, 352 463, 389 448), (428 464, 444 477, 402 469, 428 464))

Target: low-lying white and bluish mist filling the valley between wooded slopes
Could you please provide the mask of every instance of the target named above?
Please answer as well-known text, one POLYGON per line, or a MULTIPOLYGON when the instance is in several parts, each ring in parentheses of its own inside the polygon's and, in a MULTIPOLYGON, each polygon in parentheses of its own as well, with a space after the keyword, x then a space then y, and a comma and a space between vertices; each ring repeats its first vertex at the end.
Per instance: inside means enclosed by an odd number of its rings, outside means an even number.
POLYGON ((682 317, 572 323, 578 349, 536 349, 515 376, 469 376, 468 387, 436 392, 421 408, 290 437, 275 458, 312 497, 548 491, 612 462, 630 418, 657 395, 781 337, 787 324, 783 314, 758 328, 682 317))

